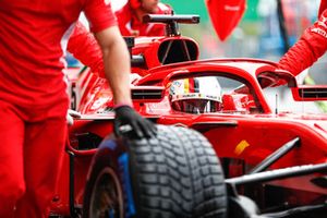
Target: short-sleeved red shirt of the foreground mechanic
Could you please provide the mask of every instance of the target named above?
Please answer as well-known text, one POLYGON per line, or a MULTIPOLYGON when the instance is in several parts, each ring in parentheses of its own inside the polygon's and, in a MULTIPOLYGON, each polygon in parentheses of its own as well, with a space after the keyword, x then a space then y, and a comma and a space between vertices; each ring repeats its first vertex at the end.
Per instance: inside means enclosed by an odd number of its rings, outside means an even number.
POLYGON ((63 56, 81 11, 93 32, 117 24, 104 0, 0 0, 0 98, 40 107, 68 98, 63 56))

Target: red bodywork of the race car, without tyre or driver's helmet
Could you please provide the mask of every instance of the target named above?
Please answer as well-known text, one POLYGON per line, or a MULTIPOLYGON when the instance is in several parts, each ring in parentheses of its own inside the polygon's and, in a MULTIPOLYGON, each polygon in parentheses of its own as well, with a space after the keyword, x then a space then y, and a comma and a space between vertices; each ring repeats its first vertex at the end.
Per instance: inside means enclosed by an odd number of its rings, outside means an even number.
MULTIPOLYGON (((192 19, 194 21, 194 16, 192 19)), ((169 25, 175 24, 175 21, 168 21, 169 25)), ((181 21, 196 23, 190 22, 189 16, 181 16, 181 21)), ((221 159, 226 178, 267 168, 327 162, 327 116, 278 111, 271 108, 264 94, 265 88, 287 84, 295 100, 326 100, 326 87, 300 86, 288 72, 272 73, 277 65, 266 60, 198 60, 196 41, 177 31, 166 37, 128 40, 132 45, 132 73, 137 75, 131 82, 134 108, 156 123, 199 131, 221 159), (174 110, 169 96, 171 82, 204 76, 220 82, 221 111, 186 113, 174 110), (276 150, 279 157, 257 170, 276 150)), ((114 118, 112 92, 105 78, 84 69, 71 81, 73 108, 82 117, 70 128, 64 168, 52 202, 53 214, 64 215, 73 215, 82 206, 92 157, 101 140, 112 133, 114 118)), ((237 189, 254 199, 262 211, 279 211, 324 204, 326 180, 326 174, 315 172, 256 185, 241 184, 237 189)))

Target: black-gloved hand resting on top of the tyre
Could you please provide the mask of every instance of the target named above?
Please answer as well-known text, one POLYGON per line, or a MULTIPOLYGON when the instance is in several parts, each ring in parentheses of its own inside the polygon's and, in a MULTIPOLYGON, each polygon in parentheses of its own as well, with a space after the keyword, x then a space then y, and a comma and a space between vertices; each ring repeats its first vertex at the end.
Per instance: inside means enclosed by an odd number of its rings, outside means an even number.
POLYGON ((116 136, 142 138, 156 135, 156 125, 149 120, 141 117, 132 107, 120 106, 114 108, 114 111, 116 118, 113 130, 116 136))

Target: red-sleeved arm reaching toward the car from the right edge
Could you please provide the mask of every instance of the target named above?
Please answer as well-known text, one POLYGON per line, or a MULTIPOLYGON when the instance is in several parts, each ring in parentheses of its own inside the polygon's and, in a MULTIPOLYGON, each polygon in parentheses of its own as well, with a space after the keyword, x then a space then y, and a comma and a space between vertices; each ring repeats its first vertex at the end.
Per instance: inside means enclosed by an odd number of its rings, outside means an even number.
POLYGON ((299 41, 280 59, 278 68, 298 75, 327 49, 327 0, 320 1, 318 20, 305 29, 299 41))

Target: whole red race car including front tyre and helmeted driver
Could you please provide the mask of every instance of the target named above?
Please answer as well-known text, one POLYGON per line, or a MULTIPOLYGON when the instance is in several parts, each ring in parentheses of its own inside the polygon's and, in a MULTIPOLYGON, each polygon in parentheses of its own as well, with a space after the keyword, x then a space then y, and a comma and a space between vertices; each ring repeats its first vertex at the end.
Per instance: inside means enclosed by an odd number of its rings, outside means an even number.
POLYGON ((87 68, 75 71, 72 109, 81 117, 52 216, 326 217, 327 116, 283 111, 267 93, 286 84, 305 108, 327 100, 327 87, 298 85, 266 60, 198 60, 196 41, 178 29, 197 15, 145 21, 166 23, 167 36, 126 38, 132 98, 158 135, 110 134, 110 87, 87 68))

